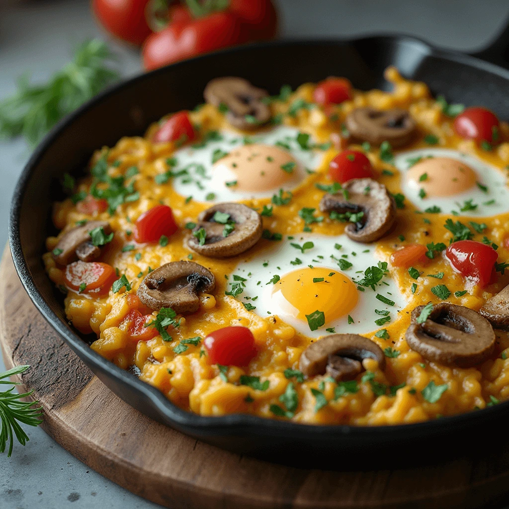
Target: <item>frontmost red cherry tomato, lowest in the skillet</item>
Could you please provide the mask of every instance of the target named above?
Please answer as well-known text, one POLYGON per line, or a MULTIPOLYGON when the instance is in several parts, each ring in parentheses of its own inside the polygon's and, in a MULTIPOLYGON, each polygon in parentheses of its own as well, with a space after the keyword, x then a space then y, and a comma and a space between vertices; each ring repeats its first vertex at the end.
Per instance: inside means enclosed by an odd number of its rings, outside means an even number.
POLYGON ((224 327, 211 332, 204 345, 211 364, 247 366, 257 354, 254 336, 247 327, 224 327))

